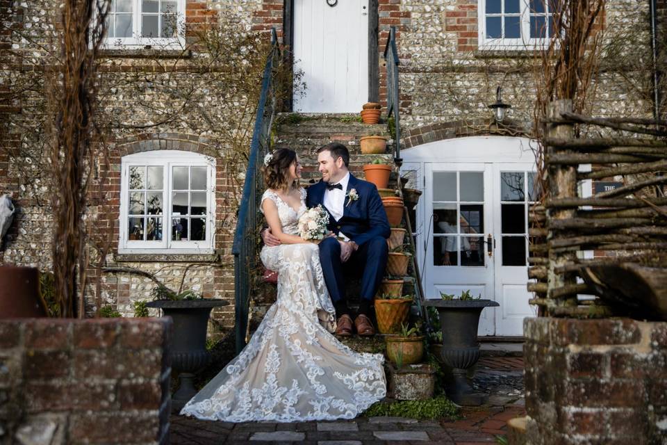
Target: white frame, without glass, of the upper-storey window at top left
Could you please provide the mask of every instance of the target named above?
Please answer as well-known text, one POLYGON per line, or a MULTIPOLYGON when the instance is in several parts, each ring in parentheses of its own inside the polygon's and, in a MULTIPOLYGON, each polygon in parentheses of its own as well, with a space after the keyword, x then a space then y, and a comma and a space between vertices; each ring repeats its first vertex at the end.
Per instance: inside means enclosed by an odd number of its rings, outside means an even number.
MULTIPOLYGON (((132 1, 132 37, 106 37, 103 47, 105 49, 140 49, 151 47, 154 49, 182 49, 185 47, 186 39, 183 30, 186 23, 186 0, 176 0, 176 37, 154 38, 141 37, 141 6, 142 0, 132 1)), ((108 35, 108 33, 107 33, 108 35)))

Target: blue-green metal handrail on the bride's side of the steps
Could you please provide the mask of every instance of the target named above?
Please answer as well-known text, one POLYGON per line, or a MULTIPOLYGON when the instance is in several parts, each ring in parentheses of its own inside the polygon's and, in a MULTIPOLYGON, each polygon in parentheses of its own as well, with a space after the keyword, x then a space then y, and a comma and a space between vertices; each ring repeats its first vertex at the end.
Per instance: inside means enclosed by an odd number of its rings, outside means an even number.
POLYGON ((258 174, 261 159, 270 149, 270 131, 276 109, 276 98, 273 90, 273 67, 279 60, 280 49, 275 29, 271 29, 271 52, 266 60, 262 79, 262 90, 255 116, 255 126, 250 143, 248 168, 245 173, 243 195, 238 210, 238 222, 234 233, 231 253, 234 256, 234 299, 236 303, 236 353, 245 347, 245 333, 248 324, 249 294, 251 270, 256 266, 256 231, 257 227, 257 192, 258 174))

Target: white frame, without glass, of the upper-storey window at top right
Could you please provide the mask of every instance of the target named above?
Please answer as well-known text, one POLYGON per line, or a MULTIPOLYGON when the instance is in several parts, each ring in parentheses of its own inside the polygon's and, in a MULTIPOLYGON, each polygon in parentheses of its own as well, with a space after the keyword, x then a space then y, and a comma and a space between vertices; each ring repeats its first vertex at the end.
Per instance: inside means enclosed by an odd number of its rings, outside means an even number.
MULTIPOLYGON (((504 1, 504 0, 502 0, 504 1)), ((486 0, 477 0, 477 42, 479 49, 540 49, 546 47, 550 38, 530 38, 530 0, 519 0, 521 38, 487 38, 486 37, 486 0)), ((545 0, 549 7, 549 0, 545 0)), ((548 14, 548 9, 547 9, 548 14)), ((547 15, 548 17, 548 15, 547 15)), ((548 20, 547 20, 548 22, 548 20)), ((503 25, 504 26, 504 25, 503 25)), ((547 33, 548 35, 548 33, 547 33)))

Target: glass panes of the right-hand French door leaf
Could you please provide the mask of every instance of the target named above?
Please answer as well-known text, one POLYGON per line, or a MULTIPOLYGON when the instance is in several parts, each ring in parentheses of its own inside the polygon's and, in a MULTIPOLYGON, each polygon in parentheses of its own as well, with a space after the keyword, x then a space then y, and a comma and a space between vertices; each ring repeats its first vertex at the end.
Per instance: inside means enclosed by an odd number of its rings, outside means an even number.
POLYGON ((528 211, 539 191, 534 172, 500 172, 502 266, 526 266, 528 211))

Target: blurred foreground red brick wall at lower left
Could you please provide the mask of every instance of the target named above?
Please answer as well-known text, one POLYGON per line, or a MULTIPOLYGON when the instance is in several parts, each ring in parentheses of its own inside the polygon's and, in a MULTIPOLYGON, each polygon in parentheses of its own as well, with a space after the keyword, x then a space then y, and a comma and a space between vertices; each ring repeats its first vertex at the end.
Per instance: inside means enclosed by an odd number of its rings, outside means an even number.
POLYGON ((0 443, 166 444, 170 318, 0 321, 0 443), (46 442, 29 442, 42 434, 46 442))

